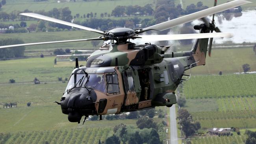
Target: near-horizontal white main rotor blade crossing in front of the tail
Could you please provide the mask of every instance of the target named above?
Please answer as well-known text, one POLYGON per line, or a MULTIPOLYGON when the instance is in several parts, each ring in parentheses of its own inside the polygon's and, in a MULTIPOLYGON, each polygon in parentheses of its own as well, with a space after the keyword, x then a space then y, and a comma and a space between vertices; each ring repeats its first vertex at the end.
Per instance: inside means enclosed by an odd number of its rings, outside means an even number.
POLYGON ((181 39, 204 39, 211 37, 232 37, 231 33, 193 33, 193 34, 176 34, 176 35, 139 35, 133 38, 142 38, 140 41, 170 41, 181 39))

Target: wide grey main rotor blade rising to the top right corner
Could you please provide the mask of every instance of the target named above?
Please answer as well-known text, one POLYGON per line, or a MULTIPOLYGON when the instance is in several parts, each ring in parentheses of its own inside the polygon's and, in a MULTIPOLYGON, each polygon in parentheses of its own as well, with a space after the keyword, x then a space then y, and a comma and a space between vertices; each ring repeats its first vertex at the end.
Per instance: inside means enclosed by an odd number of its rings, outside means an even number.
POLYGON ((157 30, 157 31, 167 30, 167 29, 172 28, 174 26, 177 26, 179 24, 184 24, 184 23, 187 23, 187 22, 191 22, 193 20, 196 20, 196 19, 199 19, 199 18, 202 18, 202 17, 206 17, 206 16, 212 15, 214 13, 219 13, 221 11, 231 9, 233 7, 241 6, 241 5, 247 4, 247 3, 251 3, 251 2, 248 2, 248 1, 245 1, 245 0, 234 0, 234 1, 231 1, 231 2, 227 2, 225 4, 221 4, 219 6, 210 7, 208 9, 204 9, 202 11, 191 13, 191 14, 185 15, 183 17, 179 17, 179 18, 175 18, 173 20, 162 22, 162 23, 156 24, 154 26, 149 26, 149 27, 144 28, 141 31, 139 31, 139 33, 142 33, 144 31, 148 31, 148 30, 157 30))

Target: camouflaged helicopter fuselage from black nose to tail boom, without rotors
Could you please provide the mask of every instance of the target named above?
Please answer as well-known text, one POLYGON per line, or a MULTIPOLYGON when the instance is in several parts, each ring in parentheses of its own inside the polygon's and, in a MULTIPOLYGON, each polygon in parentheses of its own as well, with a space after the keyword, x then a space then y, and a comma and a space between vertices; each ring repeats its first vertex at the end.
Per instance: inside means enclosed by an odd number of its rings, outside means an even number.
POLYGON ((61 98, 62 113, 80 122, 82 116, 171 107, 184 71, 196 66, 192 53, 165 53, 154 44, 134 43, 97 50, 86 66, 73 70, 61 98))

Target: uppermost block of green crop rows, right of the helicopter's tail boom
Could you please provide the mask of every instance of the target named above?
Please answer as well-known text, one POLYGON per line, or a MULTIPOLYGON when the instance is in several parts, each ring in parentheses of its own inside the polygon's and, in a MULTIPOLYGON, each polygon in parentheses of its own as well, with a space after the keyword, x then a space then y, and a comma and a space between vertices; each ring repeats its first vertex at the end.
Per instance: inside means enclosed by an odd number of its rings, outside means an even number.
POLYGON ((193 76, 184 82, 186 98, 227 98, 256 96, 256 74, 193 76))

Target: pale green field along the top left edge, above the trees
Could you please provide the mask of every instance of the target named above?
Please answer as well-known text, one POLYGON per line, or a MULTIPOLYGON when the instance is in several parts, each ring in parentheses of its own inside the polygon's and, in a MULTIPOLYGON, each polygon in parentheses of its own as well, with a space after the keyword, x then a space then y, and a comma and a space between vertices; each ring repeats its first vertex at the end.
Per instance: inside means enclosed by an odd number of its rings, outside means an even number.
POLYGON ((100 13, 109 13, 111 14, 112 10, 116 6, 129 6, 129 5, 139 5, 145 6, 146 4, 152 4, 154 0, 106 0, 106 1, 90 1, 90 2, 83 2, 82 0, 77 2, 64 2, 64 3, 57 3, 54 2, 40 2, 34 3, 30 1, 19 2, 19 4, 9 3, 2 7, 1 11, 5 11, 6 13, 11 13, 13 10, 17 11, 24 11, 25 9, 29 9, 30 11, 39 11, 45 10, 49 11, 53 8, 64 8, 69 7, 70 11, 72 11, 72 15, 76 15, 79 13, 80 15, 87 14, 87 13, 97 13, 97 17, 100 17, 100 13))

